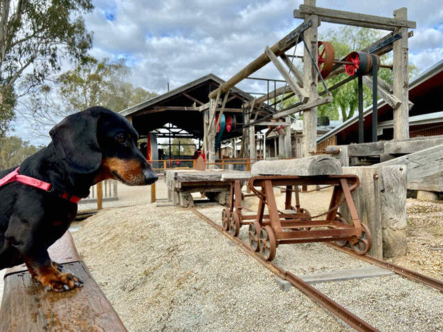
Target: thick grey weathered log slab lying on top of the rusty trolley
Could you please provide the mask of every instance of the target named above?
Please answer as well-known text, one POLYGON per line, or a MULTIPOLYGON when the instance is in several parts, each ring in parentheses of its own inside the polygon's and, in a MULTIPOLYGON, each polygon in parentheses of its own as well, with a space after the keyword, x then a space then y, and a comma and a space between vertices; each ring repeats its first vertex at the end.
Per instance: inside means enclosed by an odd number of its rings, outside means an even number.
POLYGON ((343 174, 340 162, 329 155, 306 158, 260 160, 252 166, 251 174, 318 176, 343 174))

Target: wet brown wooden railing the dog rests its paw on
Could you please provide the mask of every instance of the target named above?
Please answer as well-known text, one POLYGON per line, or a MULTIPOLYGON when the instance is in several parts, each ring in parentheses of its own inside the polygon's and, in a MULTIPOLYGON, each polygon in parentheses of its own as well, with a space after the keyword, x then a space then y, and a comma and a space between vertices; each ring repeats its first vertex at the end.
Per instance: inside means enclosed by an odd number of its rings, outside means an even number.
POLYGON ((0 331, 127 331, 89 273, 69 232, 49 248, 53 261, 84 281, 82 288, 46 291, 26 266, 6 271, 0 306, 0 331))

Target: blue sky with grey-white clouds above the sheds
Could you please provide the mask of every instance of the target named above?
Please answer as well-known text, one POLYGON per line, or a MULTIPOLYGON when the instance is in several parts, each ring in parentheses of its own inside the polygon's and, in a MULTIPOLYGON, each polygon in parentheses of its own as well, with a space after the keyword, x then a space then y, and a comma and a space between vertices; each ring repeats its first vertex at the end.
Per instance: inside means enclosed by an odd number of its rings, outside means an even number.
MULTIPOLYGON (((96 0, 85 17, 93 31, 95 57, 124 57, 132 68, 132 83, 156 93, 174 89, 214 73, 228 79, 273 45, 302 20, 293 19, 301 1, 289 0, 96 0)), ((409 39, 409 59, 419 71, 443 59, 442 0, 317 0, 317 6, 392 17, 406 6, 408 19, 417 21, 409 39)), ((338 28, 323 23, 319 33, 338 28)), ((386 32, 388 33, 388 32, 386 32)), ((301 47, 300 51, 301 51, 301 47)), ((279 78, 273 66, 255 76, 279 78)), ((264 92, 253 81, 238 85, 264 92)), ((16 129, 19 129, 17 127, 16 129)), ((26 135, 16 130, 16 134, 26 135)))

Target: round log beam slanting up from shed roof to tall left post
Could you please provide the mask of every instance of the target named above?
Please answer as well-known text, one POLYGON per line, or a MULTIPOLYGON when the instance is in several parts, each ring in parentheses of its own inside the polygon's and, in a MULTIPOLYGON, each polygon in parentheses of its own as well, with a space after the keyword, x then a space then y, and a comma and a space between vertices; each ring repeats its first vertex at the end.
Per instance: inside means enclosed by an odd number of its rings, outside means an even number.
MULTIPOLYGON (((280 57, 280 55, 289 50, 289 48, 293 47, 296 43, 301 42, 298 36, 300 35, 300 33, 309 28, 309 26, 311 26, 310 21, 300 24, 300 26, 292 30, 288 35, 280 39, 280 41, 278 41, 271 47, 273 53, 275 53, 276 56, 280 57)), ((221 84, 218 87, 218 89, 212 91, 209 94, 209 98, 210 99, 215 98, 218 91, 225 93, 230 88, 235 86, 235 84, 244 80, 249 75, 255 73, 255 71, 258 71, 260 68, 262 68, 262 66, 268 64, 270 61, 271 60, 269 59, 269 57, 265 53, 262 53, 262 55, 257 57, 257 59, 255 59, 253 62, 244 67, 241 71, 239 71, 237 74, 231 77, 228 81, 221 84)))

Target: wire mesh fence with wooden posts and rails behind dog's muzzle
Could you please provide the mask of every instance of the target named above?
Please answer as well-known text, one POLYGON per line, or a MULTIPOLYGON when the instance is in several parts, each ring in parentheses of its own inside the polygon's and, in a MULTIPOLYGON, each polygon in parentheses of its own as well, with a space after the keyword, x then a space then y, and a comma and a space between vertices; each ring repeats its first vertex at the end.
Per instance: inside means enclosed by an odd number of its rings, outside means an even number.
MULTIPOLYGON (((250 158, 221 158, 215 163, 206 163, 206 168, 215 166, 218 169, 250 171, 251 165, 258 159, 250 158)), ((159 175, 159 181, 154 185, 129 186, 115 180, 106 180, 93 185, 91 194, 78 204, 79 211, 101 210, 102 208, 123 208, 133 205, 165 201, 168 199, 168 188, 165 183, 165 169, 196 168, 195 159, 152 160, 154 172, 159 175)))

